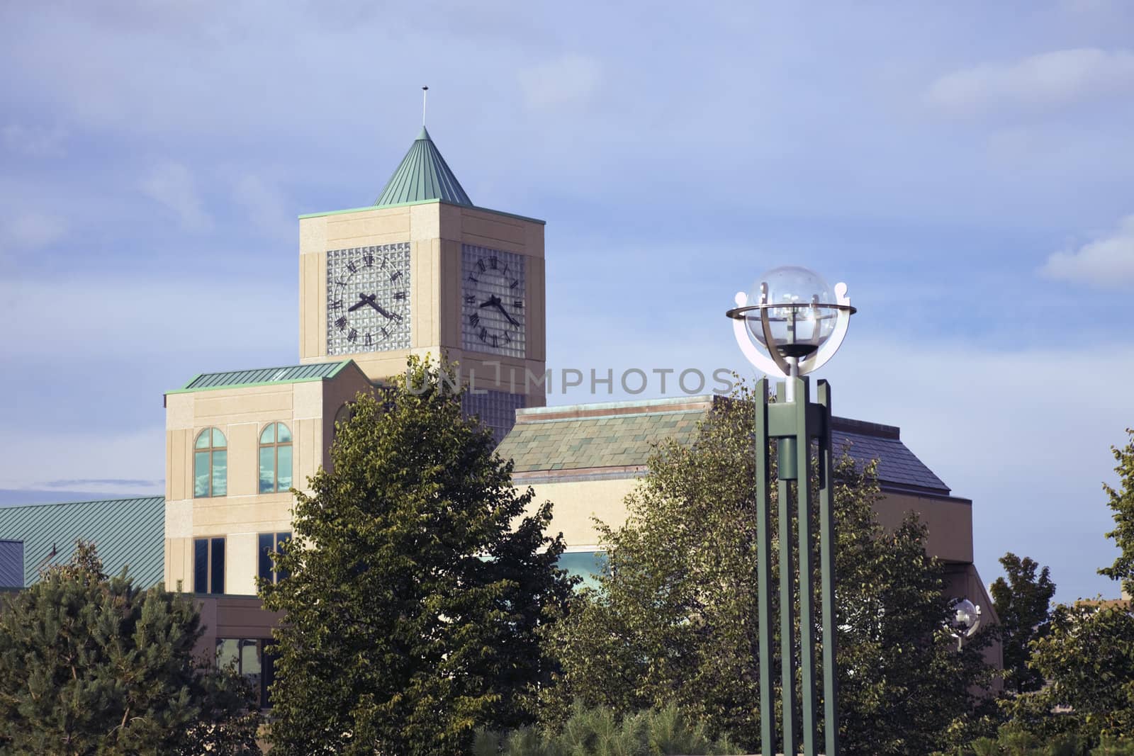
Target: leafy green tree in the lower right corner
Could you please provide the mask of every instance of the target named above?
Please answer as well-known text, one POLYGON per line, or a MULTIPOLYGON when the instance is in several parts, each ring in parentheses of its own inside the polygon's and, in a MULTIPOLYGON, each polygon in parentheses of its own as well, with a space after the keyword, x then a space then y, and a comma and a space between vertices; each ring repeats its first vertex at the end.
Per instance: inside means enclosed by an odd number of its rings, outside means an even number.
POLYGON ((1134 737, 1134 612, 1126 602, 1057 606, 1051 631, 1032 643, 1049 685, 1007 703, 1013 724, 1041 738, 1134 737))

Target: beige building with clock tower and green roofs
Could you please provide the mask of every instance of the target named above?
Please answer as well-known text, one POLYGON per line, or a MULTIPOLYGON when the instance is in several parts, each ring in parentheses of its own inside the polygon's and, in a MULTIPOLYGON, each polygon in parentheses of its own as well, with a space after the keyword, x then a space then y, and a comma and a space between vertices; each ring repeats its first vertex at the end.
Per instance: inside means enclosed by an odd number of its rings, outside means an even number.
MULTIPOLYGON (((156 516, 144 532, 163 538, 128 540, 107 563, 115 571, 160 550, 166 585, 201 602, 203 653, 236 660, 262 691, 278 618, 260 609, 255 580, 279 577, 268 554, 290 535, 289 490, 329 465, 335 423, 352 399, 404 371, 409 355, 445 352, 475 382, 465 413, 516 460, 516 484, 555 503, 564 566, 584 577, 600 568, 603 547, 592 518, 619 524, 651 443, 692 441, 717 401, 544 407, 542 391, 517 389, 545 371, 544 222, 473 205, 424 128, 373 205, 302 215, 298 246, 298 363, 197 375, 166 394, 163 509, 153 499, 112 502, 121 524, 110 534, 129 527, 133 512, 137 523, 156 516)), ((954 496, 895 427, 838 419, 835 435, 854 456, 881 460, 880 519, 917 511, 929 551, 950 566, 949 593, 991 612, 973 567, 972 502, 954 496)), ((71 512, 65 535, 52 525, 62 515, 19 509, 0 510, 0 540, 27 576, 28 560, 66 559, 69 547, 58 544, 95 533, 78 513, 111 511, 102 502, 60 509, 71 512)), ((103 530, 98 538, 110 538, 103 530)))

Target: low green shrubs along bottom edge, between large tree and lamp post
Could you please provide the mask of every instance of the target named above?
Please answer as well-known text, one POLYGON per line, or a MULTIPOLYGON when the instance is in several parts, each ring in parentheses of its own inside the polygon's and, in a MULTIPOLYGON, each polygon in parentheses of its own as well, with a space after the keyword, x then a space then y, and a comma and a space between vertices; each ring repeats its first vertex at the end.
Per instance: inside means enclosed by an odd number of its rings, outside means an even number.
POLYGON ((481 731, 474 756, 662 756, 739 754, 728 738, 713 740, 702 722, 678 706, 619 719, 607 707, 576 703, 559 729, 523 728, 507 736, 481 731))

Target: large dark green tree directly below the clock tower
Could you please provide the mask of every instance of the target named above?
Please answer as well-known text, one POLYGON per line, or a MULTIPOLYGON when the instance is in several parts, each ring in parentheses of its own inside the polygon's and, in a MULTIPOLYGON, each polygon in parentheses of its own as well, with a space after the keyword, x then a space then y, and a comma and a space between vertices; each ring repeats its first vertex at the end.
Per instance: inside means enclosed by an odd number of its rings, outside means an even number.
POLYGON ((570 595, 551 506, 411 359, 380 404, 359 394, 332 469, 294 492, 290 577, 261 584, 274 632, 273 754, 460 754, 480 727, 531 721, 548 677, 536 630, 570 595))

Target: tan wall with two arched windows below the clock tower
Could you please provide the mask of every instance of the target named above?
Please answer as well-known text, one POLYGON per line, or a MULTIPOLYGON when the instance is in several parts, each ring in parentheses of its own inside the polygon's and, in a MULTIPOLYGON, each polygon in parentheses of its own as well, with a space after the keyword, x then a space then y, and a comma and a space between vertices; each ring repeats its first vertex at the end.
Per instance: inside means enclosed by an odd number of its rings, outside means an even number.
POLYGON ((260 432, 282 422, 291 431, 293 485, 328 461, 335 413, 358 391, 362 373, 347 367, 327 381, 171 393, 166 398, 166 585, 193 589, 193 540, 226 538, 225 592, 254 594, 256 537, 291 529, 291 494, 257 492, 260 432), (193 444, 218 427, 228 449, 228 495, 193 498, 193 444))

